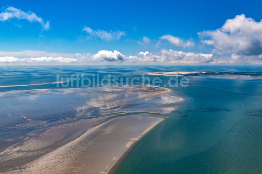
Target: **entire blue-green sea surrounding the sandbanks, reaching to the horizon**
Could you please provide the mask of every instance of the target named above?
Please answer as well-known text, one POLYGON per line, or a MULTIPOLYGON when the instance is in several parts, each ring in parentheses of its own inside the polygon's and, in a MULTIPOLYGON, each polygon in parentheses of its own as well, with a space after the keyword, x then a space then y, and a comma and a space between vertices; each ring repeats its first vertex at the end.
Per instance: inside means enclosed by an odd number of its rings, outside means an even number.
MULTIPOLYGON (((6 66, 0 69, 0 86, 56 82, 56 74, 99 74, 101 79, 108 73, 132 78, 157 71, 262 71, 262 67, 6 66)), ((168 76, 157 77, 167 84, 168 76)), ((187 78, 187 88, 171 88, 185 100, 175 104, 176 111, 162 115, 165 120, 135 145, 115 173, 262 173, 262 80, 187 78)), ((0 92, 41 88, 57 87, 3 87, 0 92)))

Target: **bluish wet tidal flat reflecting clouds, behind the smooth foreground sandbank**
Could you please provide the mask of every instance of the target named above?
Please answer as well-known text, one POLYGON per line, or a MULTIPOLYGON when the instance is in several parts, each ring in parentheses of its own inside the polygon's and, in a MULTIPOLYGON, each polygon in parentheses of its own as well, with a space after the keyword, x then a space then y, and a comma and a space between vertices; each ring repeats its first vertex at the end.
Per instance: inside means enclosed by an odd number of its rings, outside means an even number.
POLYGON ((44 121, 106 115, 122 110, 145 111, 179 100, 169 95, 142 100, 144 96, 161 91, 163 88, 126 86, 0 92, 0 129, 21 129, 44 121))

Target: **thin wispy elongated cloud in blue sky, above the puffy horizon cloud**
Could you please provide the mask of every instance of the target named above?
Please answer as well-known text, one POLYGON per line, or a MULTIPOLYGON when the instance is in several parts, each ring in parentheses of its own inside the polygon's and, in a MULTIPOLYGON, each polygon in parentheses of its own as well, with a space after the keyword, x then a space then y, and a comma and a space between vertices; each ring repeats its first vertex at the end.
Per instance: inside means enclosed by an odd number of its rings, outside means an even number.
POLYGON ((111 41, 118 40, 125 35, 124 31, 104 31, 104 30, 92 30, 90 27, 84 27, 83 31, 90 34, 93 37, 99 37, 102 40, 111 41))

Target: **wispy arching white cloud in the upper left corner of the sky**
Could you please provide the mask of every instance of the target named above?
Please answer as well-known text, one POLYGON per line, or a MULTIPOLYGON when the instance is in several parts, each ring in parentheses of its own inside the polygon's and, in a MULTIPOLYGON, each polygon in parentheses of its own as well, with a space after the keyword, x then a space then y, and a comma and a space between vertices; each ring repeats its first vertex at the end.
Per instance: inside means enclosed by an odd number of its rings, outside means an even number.
POLYGON ((31 11, 24 12, 14 7, 8 7, 4 9, 4 12, 0 13, 0 21, 2 22, 11 18, 26 19, 30 22, 39 22, 44 30, 48 30, 50 28, 49 21, 45 23, 42 18, 38 17, 31 11))

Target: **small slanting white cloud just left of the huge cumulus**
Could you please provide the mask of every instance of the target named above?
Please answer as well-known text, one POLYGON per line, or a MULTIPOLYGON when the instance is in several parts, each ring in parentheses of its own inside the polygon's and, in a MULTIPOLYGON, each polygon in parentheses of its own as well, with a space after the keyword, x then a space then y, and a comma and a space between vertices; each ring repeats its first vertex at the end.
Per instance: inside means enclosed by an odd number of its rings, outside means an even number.
POLYGON ((195 44, 193 41, 190 41, 190 40, 184 41, 183 39, 176 37, 176 36, 172 36, 170 34, 166 34, 164 36, 161 36, 160 39, 166 39, 171 44, 173 44, 177 47, 183 47, 183 48, 193 47, 194 44, 195 44))

